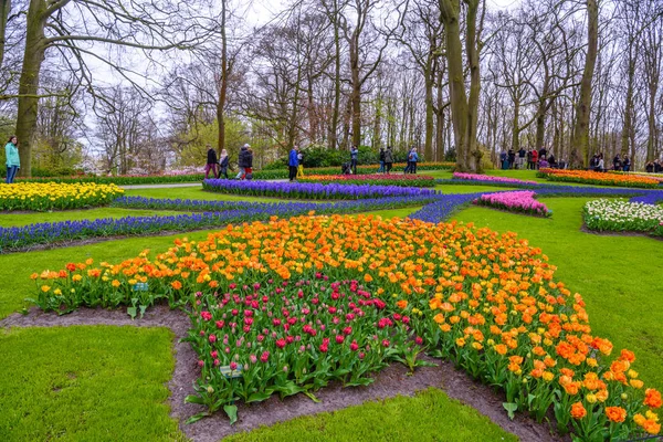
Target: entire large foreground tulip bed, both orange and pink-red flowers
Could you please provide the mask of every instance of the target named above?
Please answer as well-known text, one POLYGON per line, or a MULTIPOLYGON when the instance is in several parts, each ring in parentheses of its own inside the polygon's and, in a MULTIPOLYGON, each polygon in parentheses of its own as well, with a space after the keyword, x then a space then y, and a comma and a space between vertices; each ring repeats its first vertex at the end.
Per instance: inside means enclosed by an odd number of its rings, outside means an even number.
POLYGON ((201 367, 189 400, 209 412, 234 417, 235 400, 312 393, 332 379, 361 385, 382 358, 413 367, 425 349, 502 388, 509 414, 552 412, 558 430, 580 440, 661 430, 661 394, 638 379, 635 355, 610 357, 581 296, 514 233, 299 217, 229 225, 150 256, 33 274, 35 303, 124 304, 134 315, 161 299, 188 305, 201 367))

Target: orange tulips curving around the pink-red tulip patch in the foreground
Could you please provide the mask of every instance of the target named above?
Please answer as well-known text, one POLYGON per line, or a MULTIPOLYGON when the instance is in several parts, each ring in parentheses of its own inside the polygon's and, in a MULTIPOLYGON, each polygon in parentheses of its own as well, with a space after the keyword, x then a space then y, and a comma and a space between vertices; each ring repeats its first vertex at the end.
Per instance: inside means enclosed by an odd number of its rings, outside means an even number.
POLYGON ((334 215, 231 225, 206 241, 177 240, 154 257, 145 251, 118 264, 70 263, 32 277, 44 308, 136 308, 159 298, 175 306, 231 284, 318 272, 360 281, 387 312, 417 319, 412 334, 429 354, 502 386, 509 414, 544 420, 552 409, 559 431, 581 440, 657 434, 661 393, 638 379, 635 355, 611 356, 612 344, 591 334, 582 297, 555 270, 515 233, 334 215), (148 288, 138 291, 139 283, 148 288))

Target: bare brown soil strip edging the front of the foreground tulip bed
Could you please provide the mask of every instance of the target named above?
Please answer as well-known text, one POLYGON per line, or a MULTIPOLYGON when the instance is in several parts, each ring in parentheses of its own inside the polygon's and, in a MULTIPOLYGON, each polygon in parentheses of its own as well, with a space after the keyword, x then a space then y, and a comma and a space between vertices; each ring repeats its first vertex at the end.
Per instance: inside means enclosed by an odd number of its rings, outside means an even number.
POLYGON ((412 396, 427 388, 442 389, 451 398, 474 407, 504 430, 516 434, 522 441, 568 441, 552 433, 547 424, 539 424, 533 419, 517 414, 513 421, 508 419, 502 407, 504 397, 487 386, 471 379, 464 371, 452 364, 429 359, 438 367, 420 367, 413 375, 402 365, 392 365, 376 375, 376 381, 368 387, 343 388, 340 383, 317 391, 319 403, 313 402, 304 394, 285 398, 283 401, 272 397, 264 402, 239 404, 239 420, 229 424, 225 414, 217 412, 193 424, 183 422, 204 409, 201 406, 185 403, 188 394, 193 394, 193 382, 199 376, 198 357, 187 343, 180 343, 190 326, 189 318, 181 311, 171 311, 159 305, 149 308, 145 317, 133 320, 125 309, 108 311, 102 308, 81 308, 67 315, 43 313, 33 307, 29 314, 13 314, 0 320, 0 327, 51 327, 73 325, 114 325, 138 327, 168 327, 175 335, 173 350, 176 355, 175 372, 168 382, 171 391, 171 417, 180 422, 185 434, 197 442, 215 442, 227 435, 241 431, 250 431, 260 425, 270 425, 301 415, 309 415, 325 411, 340 410, 358 406, 369 400, 381 400, 398 394, 412 396))

